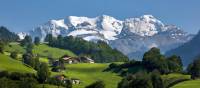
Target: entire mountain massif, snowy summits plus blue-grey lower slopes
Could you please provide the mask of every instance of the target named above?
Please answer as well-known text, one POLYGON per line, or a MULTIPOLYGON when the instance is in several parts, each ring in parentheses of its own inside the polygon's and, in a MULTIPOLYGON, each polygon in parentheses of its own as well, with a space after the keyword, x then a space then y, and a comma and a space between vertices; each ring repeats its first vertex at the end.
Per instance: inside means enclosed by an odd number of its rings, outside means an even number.
POLYGON ((192 35, 174 25, 165 25, 152 15, 129 18, 124 21, 102 15, 95 18, 69 16, 50 20, 34 28, 29 34, 43 41, 47 34, 75 36, 87 41, 106 41, 113 48, 131 58, 140 58, 151 47, 162 52, 187 42, 192 35))

